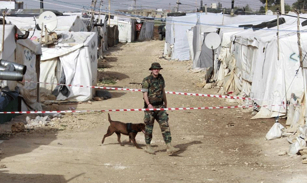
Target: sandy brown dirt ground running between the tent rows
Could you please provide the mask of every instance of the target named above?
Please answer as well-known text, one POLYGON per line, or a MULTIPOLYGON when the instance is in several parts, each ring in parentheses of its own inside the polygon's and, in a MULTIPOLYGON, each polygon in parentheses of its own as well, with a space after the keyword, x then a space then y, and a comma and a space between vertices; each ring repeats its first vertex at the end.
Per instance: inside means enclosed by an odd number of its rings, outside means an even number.
MULTIPOLYGON (((152 62, 159 62, 166 91, 217 94, 204 89, 204 73, 192 73, 191 61, 161 58, 164 41, 118 44, 98 63, 100 86, 140 89, 150 74, 152 62), (109 84, 102 84, 109 83, 109 84), (111 83, 111 84, 110 84, 111 83)), ((109 90, 112 98, 102 101, 60 104, 59 110, 138 109, 142 93, 109 90)), ((234 106, 240 100, 167 94, 168 107, 234 106)), ((50 105, 45 109, 50 109, 50 105)), ((20 115, 1 125, 1 183, 306 183, 306 164, 288 151, 285 138, 266 141, 273 119, 249 120, 251 109, 170 110, 173 145, 181 150, 166 153, 161 131, 155 123, 152 145, 156 154, 145 153, 116 135, 103 135, 109 126, 107 112, 66 113, 54 126, 10 133, 10 124, 25 122, 20 115)), ((109 112, 121 122, 143 122, 143 111, 109 112)), ((31 115, 35 118, 35 115, 31 115)), ((280 121, 285 124, 285 120, 280 121)), ((145 147, 144 135, 136 141, 145 147)))

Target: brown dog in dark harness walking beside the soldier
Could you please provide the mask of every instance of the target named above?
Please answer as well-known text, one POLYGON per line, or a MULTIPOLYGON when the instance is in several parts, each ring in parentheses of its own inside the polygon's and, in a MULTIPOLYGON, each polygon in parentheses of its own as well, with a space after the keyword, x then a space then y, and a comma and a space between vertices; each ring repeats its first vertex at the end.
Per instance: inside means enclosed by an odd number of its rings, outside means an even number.
POLYGON ((144 123, 133 124, 133 123, 112 121, 109 113, 108 117, 109 117, 110 126, 108 127, 107 133, 103 136, 101 143, 104 142, 104 139, 106 137, 111 136, 115 132, 117 135, 117 141, 120 143, 120 145, 122 145, 120 142, 120 134, 123 134, 129 136, 129 143, 132 141, 136 148, 141 149, 141 147, 139 147, 135 142, 135 136, 137 132, 143 132, 145 134, 144 123))

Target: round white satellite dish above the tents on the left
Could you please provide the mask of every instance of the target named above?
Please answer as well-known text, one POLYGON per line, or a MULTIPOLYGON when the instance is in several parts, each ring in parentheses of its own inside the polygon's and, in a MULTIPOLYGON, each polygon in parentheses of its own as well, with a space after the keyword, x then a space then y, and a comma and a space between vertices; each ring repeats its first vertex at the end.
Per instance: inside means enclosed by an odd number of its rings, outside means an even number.
POLYGON ((52 32, 53 30, 56 29, 57 25, 58 25, 58 18, 56 14, 54 14, 53 12, 45 11, 39 15, 38 26, 40 30, 44 30, 43 28, 46 27, 48 32, 52 32))

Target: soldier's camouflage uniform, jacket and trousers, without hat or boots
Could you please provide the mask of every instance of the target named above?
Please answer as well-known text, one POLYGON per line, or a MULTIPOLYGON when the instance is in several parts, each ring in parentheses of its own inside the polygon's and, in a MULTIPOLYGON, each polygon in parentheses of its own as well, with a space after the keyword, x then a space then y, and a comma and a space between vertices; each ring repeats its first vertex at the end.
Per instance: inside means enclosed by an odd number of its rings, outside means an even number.
MULTIPOLYGON (((153 105, 153 108, 165 108, 163 104, 163 89, 165 82, 161 74, 157 78, 152 75, 144 78, 142 82, 142 92, 148 92, 149 102, 153 105)), ((144 102, 144 108, 147 108, 147 104, 144 102)), ((166 111, 145 111, 144 123, 146 125, 145 142, 150 144, 153 138, 153 123, 156 120, 161 128, 162 136, 165 143, 172 141, 171 131, 169 127, 169 117, 166 111)))

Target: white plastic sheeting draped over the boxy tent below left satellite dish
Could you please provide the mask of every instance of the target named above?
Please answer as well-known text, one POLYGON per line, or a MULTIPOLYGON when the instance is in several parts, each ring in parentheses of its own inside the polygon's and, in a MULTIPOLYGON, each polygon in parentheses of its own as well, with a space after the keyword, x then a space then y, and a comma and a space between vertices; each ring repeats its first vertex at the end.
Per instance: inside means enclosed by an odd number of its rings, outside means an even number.
MULTIPOLYGON (((59 83, 62 72, 65 74, 65 84, 95 86, 97 80, 97 36, 94 32, 66 32, 59 40, 59 47, 44 48, 44 61, 41 62, 40 81, 59 83), (76 38, 76 44, 67 38, 76 38), (63 46, 63 47, 60 47, 63 46), (60 64, 59 64, 60 63, 60 64), (48 74, 47 74, 48 73, 48 74)), ((55 86, 40 85, 40 91, 50 95, 55 86)), ((59 93, 57 100, 87 101, 94 95, 94 89, 88 87, 69 87, 68 97, 59 93)))

